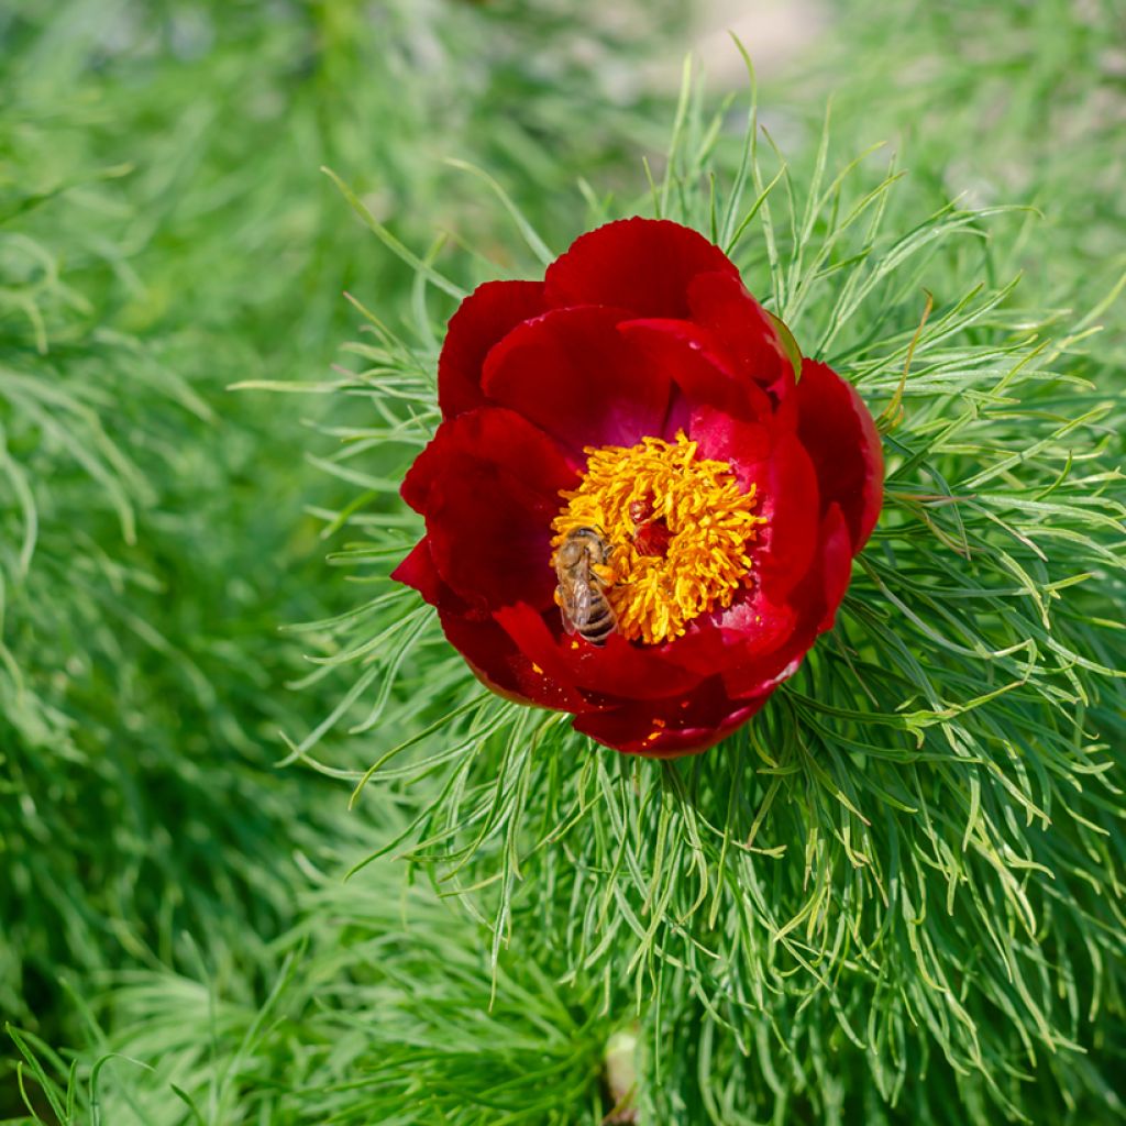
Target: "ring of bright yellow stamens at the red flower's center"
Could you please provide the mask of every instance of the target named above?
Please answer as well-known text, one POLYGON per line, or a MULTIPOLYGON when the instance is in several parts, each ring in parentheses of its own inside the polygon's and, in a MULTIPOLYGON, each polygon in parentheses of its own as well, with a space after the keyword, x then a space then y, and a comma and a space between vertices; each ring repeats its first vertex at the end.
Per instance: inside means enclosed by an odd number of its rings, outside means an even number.
POLYGON ((584 453, 581 484, 560 493, 566 508, 552 521, 552 547, 582 527, 613 546, 607 598, 618 632, 655 645, 730 606, 750 581, 750 545, 766 524, 754 513, 754 486, 743 492, 726 462, 697 458, 683 431, 671 443, 643 438, 584 453))

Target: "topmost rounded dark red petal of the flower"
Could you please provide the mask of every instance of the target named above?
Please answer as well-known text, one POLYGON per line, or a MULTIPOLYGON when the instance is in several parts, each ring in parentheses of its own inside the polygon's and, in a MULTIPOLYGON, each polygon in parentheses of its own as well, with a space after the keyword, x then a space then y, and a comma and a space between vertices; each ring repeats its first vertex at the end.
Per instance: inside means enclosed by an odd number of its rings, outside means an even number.
POLYGON ((739 277, 718 247, 669 220, 626 218, 577 239, 547 267, 549 307, 615 305, 638 316, 689 315, 697 274, 739 277))

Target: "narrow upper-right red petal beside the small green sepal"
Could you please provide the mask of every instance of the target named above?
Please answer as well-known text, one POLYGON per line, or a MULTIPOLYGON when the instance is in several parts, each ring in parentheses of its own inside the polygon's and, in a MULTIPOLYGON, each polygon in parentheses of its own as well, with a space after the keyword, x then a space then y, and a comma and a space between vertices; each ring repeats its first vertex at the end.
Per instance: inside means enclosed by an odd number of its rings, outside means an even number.
POLYGON ((796 374, 770 314, 726 272, 703 274, 688 288, 691 319, 721 342, 740 375, 783 400, 796 374))

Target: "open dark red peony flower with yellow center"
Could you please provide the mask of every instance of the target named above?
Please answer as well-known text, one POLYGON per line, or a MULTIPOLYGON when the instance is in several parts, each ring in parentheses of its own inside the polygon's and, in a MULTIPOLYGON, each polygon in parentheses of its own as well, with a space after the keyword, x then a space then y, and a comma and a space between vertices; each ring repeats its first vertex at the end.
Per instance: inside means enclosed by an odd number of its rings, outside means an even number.
POLYGON ((879 515, 860 397, 676 223, 475 289, 438 402, 402 488, 427 534, 394 578, 489 688, 619 751, 701 751, 754 715, 879 515))

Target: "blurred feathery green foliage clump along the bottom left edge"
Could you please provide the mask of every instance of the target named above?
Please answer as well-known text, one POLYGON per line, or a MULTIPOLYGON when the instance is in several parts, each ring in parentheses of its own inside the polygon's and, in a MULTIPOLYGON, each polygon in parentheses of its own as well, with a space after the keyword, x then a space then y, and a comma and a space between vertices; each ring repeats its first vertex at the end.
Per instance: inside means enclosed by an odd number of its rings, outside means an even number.
POLYGON ((602 999, 557 985, 531 932, 493 999, 475 928, 400 883, 315 877, 259 997, 198 969, 128 975, 113 1049, 89 1015, 82 1073, 17 1030, 29 1097, 92 1126, 601 1121, 602 999))

